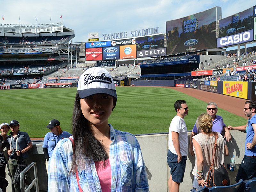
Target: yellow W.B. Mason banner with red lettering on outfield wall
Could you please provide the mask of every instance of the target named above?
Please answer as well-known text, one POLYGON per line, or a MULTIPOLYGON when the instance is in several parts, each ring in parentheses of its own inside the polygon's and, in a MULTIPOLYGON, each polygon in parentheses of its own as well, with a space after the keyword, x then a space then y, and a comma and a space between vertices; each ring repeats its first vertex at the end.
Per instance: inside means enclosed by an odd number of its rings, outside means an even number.
POLYGON ((248 82, 223 81, 223 95, 247 99, 248 82))

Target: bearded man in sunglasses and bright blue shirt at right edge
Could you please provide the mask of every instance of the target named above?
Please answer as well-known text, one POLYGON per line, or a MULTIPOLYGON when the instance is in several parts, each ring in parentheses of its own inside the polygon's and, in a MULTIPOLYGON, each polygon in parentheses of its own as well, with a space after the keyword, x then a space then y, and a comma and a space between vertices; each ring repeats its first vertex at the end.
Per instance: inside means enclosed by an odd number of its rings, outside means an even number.
POLYGON ((236 182, 240 179, 248 180, 256 177, 256 102, 246 101, 244 115, 249 117, 245 138, 244 158, 239 166, 236 182))

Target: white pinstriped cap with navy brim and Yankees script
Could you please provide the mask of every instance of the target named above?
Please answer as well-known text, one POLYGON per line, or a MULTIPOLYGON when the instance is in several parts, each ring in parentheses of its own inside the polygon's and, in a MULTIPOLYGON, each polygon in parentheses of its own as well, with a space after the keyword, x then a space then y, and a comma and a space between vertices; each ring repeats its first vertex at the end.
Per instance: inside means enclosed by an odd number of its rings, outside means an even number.
POLYGON ((99 93, 117 98, 112 76, 101 67, 92 67, 84 71, 78 81, 77 91, 81 99, 99 93))

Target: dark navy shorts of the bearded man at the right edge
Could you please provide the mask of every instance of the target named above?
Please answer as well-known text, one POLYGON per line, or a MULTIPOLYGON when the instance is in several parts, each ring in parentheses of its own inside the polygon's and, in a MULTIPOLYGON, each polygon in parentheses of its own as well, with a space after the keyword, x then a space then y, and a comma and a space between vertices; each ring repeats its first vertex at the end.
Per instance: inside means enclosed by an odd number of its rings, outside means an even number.
POLYGON ((256 177, 256 158, 244 156, 237 175, 236 175, 236 182, 238 183, 240 179, 248 180, 256 177))

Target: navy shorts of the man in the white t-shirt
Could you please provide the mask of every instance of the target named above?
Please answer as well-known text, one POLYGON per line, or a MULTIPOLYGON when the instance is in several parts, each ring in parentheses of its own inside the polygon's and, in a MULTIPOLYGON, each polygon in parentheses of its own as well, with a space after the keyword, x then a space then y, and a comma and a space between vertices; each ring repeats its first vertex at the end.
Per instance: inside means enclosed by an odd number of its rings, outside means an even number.
POLYGON ((167 163, 171 168, 172 180, 177 183, 182 183, 184 178, 185 168, 186 168, 187 157, 182 156, 182 159, 179 163, 177 162, 177 159, 178 159, 178 155, 168 150, 167 163))

